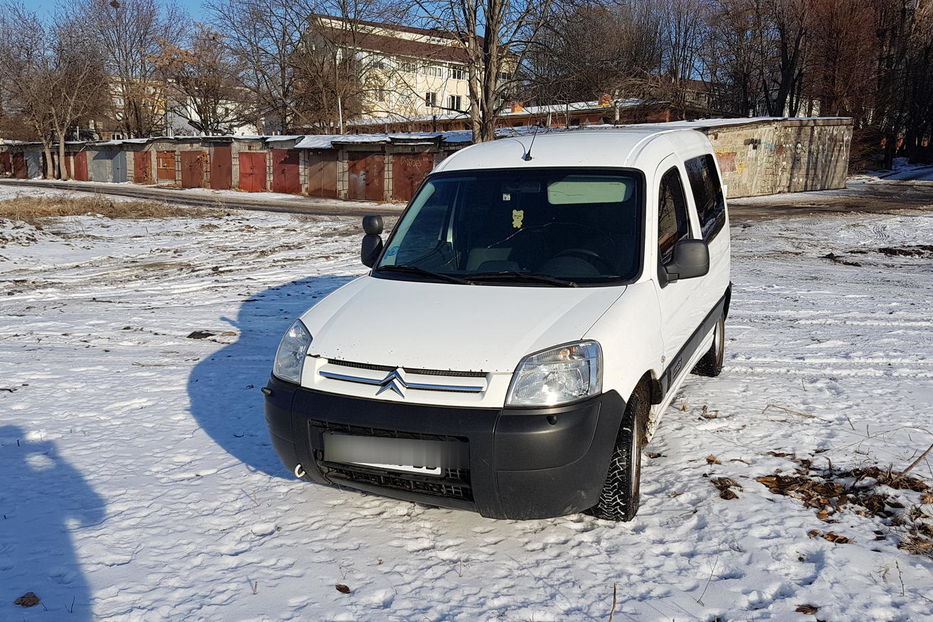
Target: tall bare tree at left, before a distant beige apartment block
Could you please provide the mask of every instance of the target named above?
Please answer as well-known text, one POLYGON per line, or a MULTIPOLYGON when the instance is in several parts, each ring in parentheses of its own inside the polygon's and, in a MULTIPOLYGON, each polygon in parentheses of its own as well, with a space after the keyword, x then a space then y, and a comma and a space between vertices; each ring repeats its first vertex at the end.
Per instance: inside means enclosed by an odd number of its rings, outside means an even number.
POLYGON ((85 0, 76 11, 106 54, 113 116, 127 136, 152 136, 165 121, 165 85, 155 60, 163 42, 179 44, 184 13, 166 0, 85 0))

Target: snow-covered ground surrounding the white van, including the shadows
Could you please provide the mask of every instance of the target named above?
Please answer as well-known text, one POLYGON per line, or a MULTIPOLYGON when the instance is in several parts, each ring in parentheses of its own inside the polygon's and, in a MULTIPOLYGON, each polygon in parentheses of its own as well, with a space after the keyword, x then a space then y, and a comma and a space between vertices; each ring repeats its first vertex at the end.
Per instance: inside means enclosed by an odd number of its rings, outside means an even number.
POLYGON ((0 620, 606 620, 614 590, 615 620, 933 615, 933 560, 900 528, 755 481, 794 471, 769 452, 903 469, 933 441, 931 255, 878 252, 933 244, 933 214, 733 225, 725 370, 686 383, 623 524, 489 520, 279 465, 259 387, 290 321, 364 271, 359 238, 262 213, 0 221, 0 620))

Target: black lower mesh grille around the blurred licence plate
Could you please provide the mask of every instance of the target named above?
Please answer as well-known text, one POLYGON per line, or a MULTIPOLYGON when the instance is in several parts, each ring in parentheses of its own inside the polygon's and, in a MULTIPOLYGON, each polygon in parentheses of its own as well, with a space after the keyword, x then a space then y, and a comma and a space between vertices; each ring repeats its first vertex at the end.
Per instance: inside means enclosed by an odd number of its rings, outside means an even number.
MULTIPOLYGON (((351 434, 353 436, 375 436, 380 438, 404 438, 425 441, 447 441, 467 443, 467 439, 459 436, 444 434, 423 434, 421 432, 405 432, 402 430, 387 430, 369 426, 350 425, 346 423, 332 423, 329 421, 311 421, 311 438, 321 438, 325 432, 351 434)), ((321 445, 312 442, 315 446, 314 458, 325 477, 336 476, 353 482, 370 484, 381 488, 394 488, 424 495, 473 500, 473 490, 470 486, 469 469, 445 469, 441 476, 420 475, 418 473, 404 473, 390 471, 356 464, 342 464, 325 462, 321 445)), ((468 452, 464 452, 468 455, 468 452)))

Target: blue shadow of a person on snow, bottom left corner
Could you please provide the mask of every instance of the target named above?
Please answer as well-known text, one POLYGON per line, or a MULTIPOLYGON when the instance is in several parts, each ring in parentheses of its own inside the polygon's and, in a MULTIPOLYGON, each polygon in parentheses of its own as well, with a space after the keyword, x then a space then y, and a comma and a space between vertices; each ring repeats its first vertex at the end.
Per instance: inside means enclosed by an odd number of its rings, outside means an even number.
POLYGON ((103 498, 54 443, 27 440, 17 426, 0 426, 0 474, 0 619, 29 617, 13 601, 32 592, 32 610, 49 619, 90 621, 90 588, 70 534, 104 519, 103 498))

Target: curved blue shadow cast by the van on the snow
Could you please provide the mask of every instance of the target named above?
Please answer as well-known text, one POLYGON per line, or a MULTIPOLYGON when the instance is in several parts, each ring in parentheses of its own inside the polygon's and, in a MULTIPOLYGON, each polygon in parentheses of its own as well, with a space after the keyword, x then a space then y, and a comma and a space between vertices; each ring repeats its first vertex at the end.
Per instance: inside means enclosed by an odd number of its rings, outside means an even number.
POLYGON ((305 309, 353 276, 322 275, 264 290, 246 299, 236 319, 221 318, 236 331, 235 343, 199 362, 188 377, 191 414, 198 425, 250 469, 292 478, 269 439, 263 387, 279 339, 305 309))

